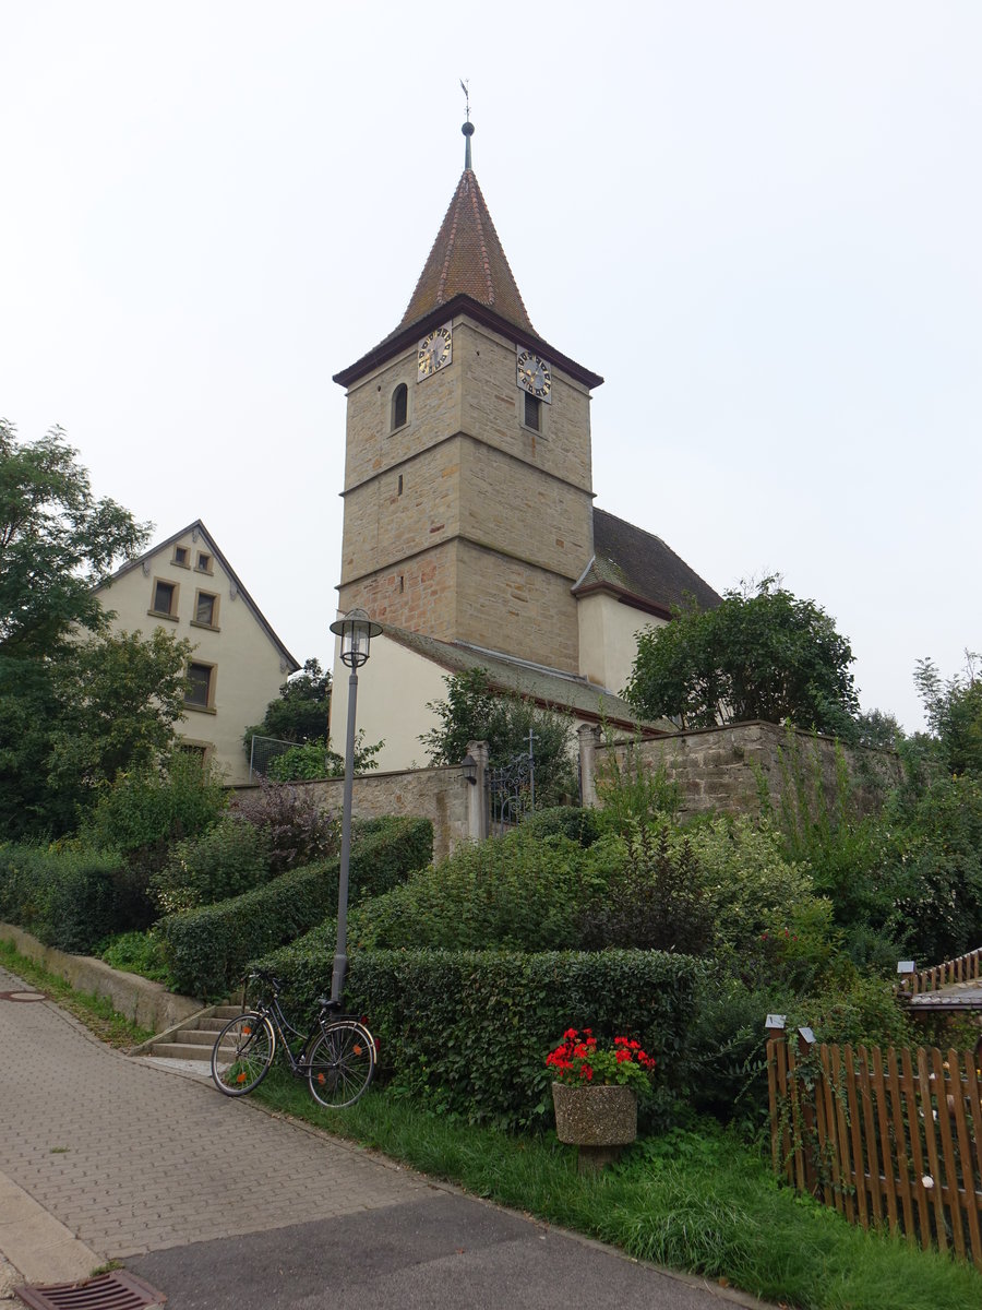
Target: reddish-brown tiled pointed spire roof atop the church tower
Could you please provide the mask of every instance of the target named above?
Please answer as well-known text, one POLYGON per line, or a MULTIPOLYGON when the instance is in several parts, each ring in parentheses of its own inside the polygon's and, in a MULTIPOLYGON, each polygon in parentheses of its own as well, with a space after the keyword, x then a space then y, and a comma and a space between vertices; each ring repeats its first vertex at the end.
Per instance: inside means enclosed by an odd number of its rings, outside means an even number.
POLYGON ((399 329, 458 295, 470 296, 515 326, 536 333, 470 168, 461 173, 399 329))

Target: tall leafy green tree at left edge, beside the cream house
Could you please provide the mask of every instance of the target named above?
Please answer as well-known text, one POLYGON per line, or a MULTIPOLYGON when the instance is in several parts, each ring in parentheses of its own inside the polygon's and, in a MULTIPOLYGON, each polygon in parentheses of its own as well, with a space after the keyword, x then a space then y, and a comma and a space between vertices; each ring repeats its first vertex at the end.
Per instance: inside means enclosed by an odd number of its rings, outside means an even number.
MULTIPOLYGON (((0 421, 0 831, 69 831, 77 806, 173 736, 186 647, 106 637, 93 587, 149 529, 96 499, 59 428, 0 421), (94 645, 89 642, 94 639, 94 645)), ((181 710, 177 709, 177 714, 181 710)))

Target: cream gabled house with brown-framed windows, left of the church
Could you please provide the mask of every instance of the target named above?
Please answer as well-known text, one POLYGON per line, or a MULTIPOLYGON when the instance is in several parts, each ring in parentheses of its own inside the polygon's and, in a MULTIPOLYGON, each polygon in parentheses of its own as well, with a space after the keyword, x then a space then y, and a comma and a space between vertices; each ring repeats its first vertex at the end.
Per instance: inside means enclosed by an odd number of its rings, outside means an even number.
POLYGON ((118 569, 97 588, 114 631, 155 627, 194 643, 181 743, 228 782, 249 777, 242 734, 300 664, 272 630, 200 519, 118 569))

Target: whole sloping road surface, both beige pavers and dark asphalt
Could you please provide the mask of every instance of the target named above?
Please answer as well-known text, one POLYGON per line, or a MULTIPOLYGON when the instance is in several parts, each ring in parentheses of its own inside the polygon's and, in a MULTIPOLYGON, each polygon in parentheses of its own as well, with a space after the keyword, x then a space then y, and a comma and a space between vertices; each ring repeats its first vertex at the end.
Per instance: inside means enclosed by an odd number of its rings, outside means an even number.
POLYGON ((115 1259, 168 1310, 759 1305, 131 1060, 22 988, 0 968, 0 1301, 115 1259))

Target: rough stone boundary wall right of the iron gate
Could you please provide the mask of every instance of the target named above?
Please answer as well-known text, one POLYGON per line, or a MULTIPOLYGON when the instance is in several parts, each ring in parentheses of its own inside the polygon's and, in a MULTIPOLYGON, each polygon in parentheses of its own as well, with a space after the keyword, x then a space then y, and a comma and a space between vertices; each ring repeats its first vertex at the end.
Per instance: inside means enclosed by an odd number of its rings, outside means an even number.
POLYGON ((668 779, 680 790, 683 814, 707 810, 755 814, 762 787, 778 808, 782 796, 788 790, 793 793, 796 776, 809 782, 817 777, 831 808, 837 795, 837 748, 856 786, 860 811, 876 808, 882 789, 900 781, 900 760, 892 751, 839 747, 834 738, 754 720, 611 744, 600 744, 597 731, 591 760, 591 744, 584 741, 581 731, 584 804, 597 804, 597 774, 602 778, 605 761, 613 756, 623 769, 628 756, 634 756, 648 768, 664 766, 668 779))

